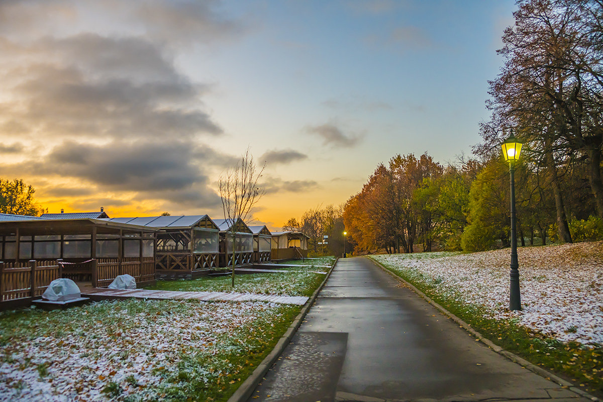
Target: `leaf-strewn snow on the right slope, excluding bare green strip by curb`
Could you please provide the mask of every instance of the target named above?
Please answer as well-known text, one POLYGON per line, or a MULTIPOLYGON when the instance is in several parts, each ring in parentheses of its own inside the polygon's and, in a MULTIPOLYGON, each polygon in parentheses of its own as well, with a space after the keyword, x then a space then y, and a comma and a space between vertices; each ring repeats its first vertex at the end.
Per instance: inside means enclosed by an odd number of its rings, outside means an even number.
POLYGON ((372 257, 463 303, 485 307, 485 316, 519 320, 562 342, 603 344, 603 242, 521 247, 517 254, 519 313, 508 310, 508 248, 372 257))

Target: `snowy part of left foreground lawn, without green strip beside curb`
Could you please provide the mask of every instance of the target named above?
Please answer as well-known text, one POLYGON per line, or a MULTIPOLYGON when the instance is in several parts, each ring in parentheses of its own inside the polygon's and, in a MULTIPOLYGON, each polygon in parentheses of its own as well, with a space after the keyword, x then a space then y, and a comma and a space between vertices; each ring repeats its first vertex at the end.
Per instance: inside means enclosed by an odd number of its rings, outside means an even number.
MULTIPOLYGON (((0 399, 147 400, 182 356, 244 351, 253 342, 250 326, 259 318, 270 322, 280 311, 261 302, 125 301, 0 315, 0 399), (118 398, 103 392, 110 382, 122 388, 118 398)), ((206 382, 221 374, 209 370, 201 378, 206 382)), ((232 374, 232 368, 223 370, 232 374)))

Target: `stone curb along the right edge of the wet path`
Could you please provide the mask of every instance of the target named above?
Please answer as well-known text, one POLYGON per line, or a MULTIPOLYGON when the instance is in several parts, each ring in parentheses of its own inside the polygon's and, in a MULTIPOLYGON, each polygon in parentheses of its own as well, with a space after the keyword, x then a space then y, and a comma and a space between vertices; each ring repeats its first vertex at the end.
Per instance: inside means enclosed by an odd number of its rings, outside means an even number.
POLYGON ((381 263, 371 259, 370 257, 365 257, 365 258, 368 258, 373 263, 375 263, 377 266, 379 266, 381 269, 383 269, 385 272, 392 275, 394 278, 401 281, 402 283, 406 284, 406 286, 410 287, 412 289, 412 291, 414 291, 416 294, 418 294, 421 298, 425 299, 429 304, 432 304, 432 306, 434 306, 436 309, 440 310, 440 312, 444 313, 444 315, 448 316, 450 319, 452 319, 452 321, 456 322, 456 324, 458 324, 464 330, 466 330, 467 332, 469 332, 470 334, 475 336, 477 341, 482 342, 482 344, 485 344, 487 347, 491 348, 491 350, 495 351, 496 353, 498 353, 502 356, 507 357, 507 359, 511 360, 512 362, 515 362, 515 363, 521 365, 522 367, 528 369, 531 372, 534 372, 535 374, 540 375, 541 377, 545 377, 546 379, 551 380, 552 382, 555 382, 560 386, 567 387, 570 391, 575 392, 576 394, 580 395, 581 397, 589 398, 590 400, 595 401, 595 402, 601 402, 601 400, 599 398, 593 397, 593 395, 587 394, 586 392, 577 388, 575 385, 573 385, 569 381, 564 380, 563 378, 558 377, 557 375, 552 374, 551 372, 546 371, 545 369, 528 362, 528 360, 523 359, 522 357, 519 357, 516 354, 511 353, 510 351, 504 350, 503 348, 499 347, 498 345, 495 345, 494 342, 490 341, 490 339, 485 338, 481 333, 474 330, 471 327, 471 325, 467 324, 467 322, 463 321, 462 319, 458 318, 453 313, 444 309, 444 307, 440 306, 440 304, 435 303, 435 301, 431 300, 431 298, 428 295, 421 292, 413 284, 409 283, 408 281, 404 280, 403 278, 400 278, 394 272, 390 271, 390 269, 385 268, 385 266, 383 266, 381 263))

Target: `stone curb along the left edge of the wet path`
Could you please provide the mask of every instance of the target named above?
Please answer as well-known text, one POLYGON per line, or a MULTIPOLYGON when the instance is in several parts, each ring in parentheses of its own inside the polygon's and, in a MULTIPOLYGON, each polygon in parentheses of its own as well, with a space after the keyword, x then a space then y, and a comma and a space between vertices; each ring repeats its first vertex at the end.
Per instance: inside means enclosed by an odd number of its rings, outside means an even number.
POLYGON ((329 279, 331 272, 333 272, 333 267, 335 267, 335 264, 338 261, 339 261, 339 257, 337 259, 335 259, 335 262, 333 262, 333 265, 329 269, 329 272, 327 272, 327 275, 324 278, 323 282, 314 291, 314 293, 309 298, 309 300, 306 301, 306 304, 301 308, 300 313, 297 315, 297 317, 295 317, 293 322, 291 322, 291 325, 289 325, 289 328, 287 328, 287 330, 285 331, 283 336, 280 337, 279 342, 276 343, 276 345, 274 346, 274 349, 270 353, 268 353, 268 356, 266 356, 264 358, 264 360, 262 360, 262 363, 259 363, 259 365, 256 367, 256 369, 253 370, 251 375, 249 377, 247 377, 247 380, 245 380, 241 384, 241 386, 236 389, 235 393, 232 394, 232 396, 229 398, 229 400, 227 402, 244 402, 244 401, 247 401, 251 397, 251 394, 253 394, 253 391, 256 389, 257 385, 259 385, 259 383, 262 382, 262 378, 264 378, 264 375, 266 374, 266 372, 271 368, 271 366, 280 357, 280 355, 283 353, 283 351, 285 350, 285 348, 289 344, 289 342, 291 342, 291 339, 295 335, 297 328, 300 327, 301 322, 303 321, 303 319, 306 317, 306 314, 308 313, 308 310, 310 310, 310 307, 312 307, 312 304, 314 304, 314 301, 318 297, 318 293, 323 289, 324 284, 327 283, 327 280, 329 279))

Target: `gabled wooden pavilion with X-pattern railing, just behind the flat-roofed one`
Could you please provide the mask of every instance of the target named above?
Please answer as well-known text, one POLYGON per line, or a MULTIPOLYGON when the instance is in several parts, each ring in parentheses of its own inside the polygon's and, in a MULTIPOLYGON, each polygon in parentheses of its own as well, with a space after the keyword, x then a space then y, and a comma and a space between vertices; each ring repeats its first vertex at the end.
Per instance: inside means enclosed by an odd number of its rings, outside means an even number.
POLYGON ((218 226, 207 215, 111 218, 157 230, 157 277, 198 278, 218 268, 218 226))

